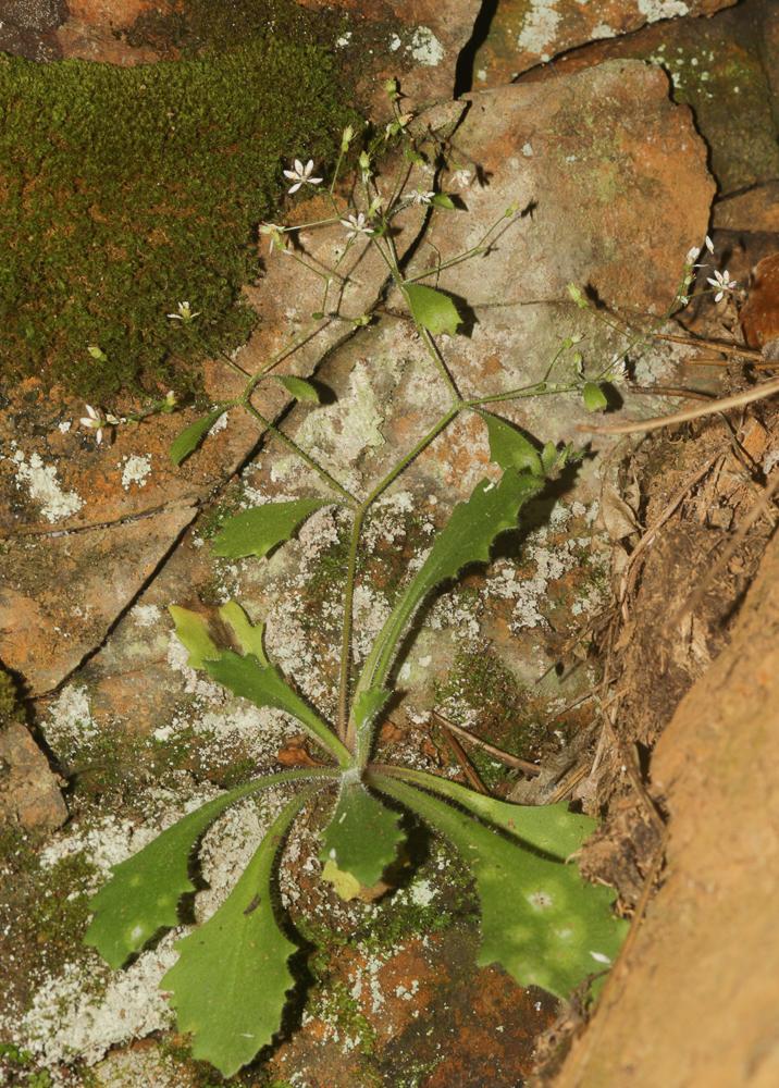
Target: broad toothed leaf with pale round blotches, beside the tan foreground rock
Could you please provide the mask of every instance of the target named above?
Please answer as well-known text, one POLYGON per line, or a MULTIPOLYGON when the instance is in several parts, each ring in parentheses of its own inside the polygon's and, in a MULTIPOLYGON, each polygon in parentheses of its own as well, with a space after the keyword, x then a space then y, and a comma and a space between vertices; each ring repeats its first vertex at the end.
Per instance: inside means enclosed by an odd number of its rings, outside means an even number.
POLYGON ((412 786, 379 774, 371 782, 449 839, 470 867, 481 904, 480 966, 498 963, 520 986, 566 999, 616 959, 628 924, 611 913, 611 889, 412 786))

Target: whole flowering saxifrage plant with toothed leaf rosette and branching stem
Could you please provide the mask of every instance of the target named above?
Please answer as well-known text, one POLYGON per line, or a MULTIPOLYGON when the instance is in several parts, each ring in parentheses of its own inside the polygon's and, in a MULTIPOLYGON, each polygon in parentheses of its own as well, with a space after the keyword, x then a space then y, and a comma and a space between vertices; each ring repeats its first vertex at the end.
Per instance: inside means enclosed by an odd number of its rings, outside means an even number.
MULTIPOLYGON (((297 399, 317 400, 316 387, 310 383, 274 373, 297 344, 310 335, 307 330, 257 373, 245 375, 242 395, 217 405, 188 426, 171 450, 174 461, 180 462, 197 448, 223 412, 242 407, 295 450, 331 490, 330 497, 267 503, 238 514, 223 526, 215 540, 214 552, 219 556, 261 559, 289 540, 323 506, 338 504, 351 511, 337 722, 326 721, 269 659, 262 625, 252 626, 236 602, 219 609, 221 638, 214 633, 217 626, 209 625, 203 615, 177 606, 170 609, 193 668, 202 670, 256 706, 275 707, 292 715, 326 753, 332 765, 268 775, 208 802, 115 866, 111 879, 91 904, 95 917, 86 940, 112 967, 119 968, 161 930, 178 924, 180 901, 194 890, 190 856, 208 827, 228 806, 262 790, 281 783, 298 787, 258 842, 256 853, 223 905, 178 942, 178 960, 161 984, 171 993, 178 1028, 191 1034, 194 1055, 211 1062, 225 1076, 250 1062, 279 1030, 294 982, 288 960, 296 945, 280 927, 273 875, 290 825, 320 795, 332 798, 330 818, 322 830, 320 861, 323 877, 332 880, 336 890, 343 891, 345 885, 371 887, 385 875, 404 843, 401 814, 411 813, 448 839, 470 868, 481 907, 479 963, 500 964, 523 986, 535 985, 567 997, 613 961, 626 929, 626 923, 613 913, 613 891, 585 881, 576 863, 569 860, 591 833, 595 820, 569 812, 565 803, 537 807, 510 804, 425 771, 374 762, 376 727, 393 696, 400 647, 418 609, 436 589, 458 578, 465 568, 489 561, 495 539, 516 528, 523 505, 543 491, 547 477, 558 471, 570 455, 569 449, 558 450, 552 444, 537 449, 514 424, 486 411, 486 406, 519 397, 576 393, 583 395, 590 407, 603 407, 594 404, 594 391, 599 392, 598 383, 610 374, 606 369, 588 379, 581 358, 572 355, 569 376, 553 383, 553 367, 573 346, 568 339, 544 381, 495 396, 466 399, 460 395, 435 339, 441 333, 454 335, 460 314, 447 295, 419 281, 453 261, 486 251, 494 244, 496 232, 510 223, 516 210, 509 209, 467 255, 440 263, 421 276, 405 279, 393 237, 394 215, 409 202, 428 205, 431 211, 441 209, 442 213, 454 211, 446 194, 404 193, 403 173, 385 187, 393 196, 383 196, 383 180, 375 173, 373 161, 389 137, 406 143, 406 163, 419 161, 426 149, 429 160, 435 164, 442 153, 436 143, 432 149, 429 144, 420 149, 407 134, 408 120, 396 108, 395 121, 362 153, 360 199, 347 211, 336 202, 333 180, 330 196, 334 214, 329 222, 343 224, 346 250, 361 243, 379 248, 392 281, 407 304, 431 366, 452 395, 448 410, 368 495, 358 499, 293 438, 272 426, 251 400, 257 386, 271 379, 282 381, 297 399), (413 458, 466 411, 477 412, 483 420, 492 459, 502 474, 497 480, 482 480, 466 502, 455 506, 424 562, 398 593, 359 675, 354 676, 353 604, 366 517, 413 458)), ((345 132, 342 154, 353 135, 350 129, 345 132)), ((287 177, 297 189, 319 184, 312 173, 312 163, 304 165, 296 161, 287 177)), ((286 249, 287 228, 268 224, 263 233, 270 235, 272 248, 285 250, 290 258, 309 267, 299 252, 286 249)), ((314 271, 322 277, 321 270, 314 271)), ((317 327, 335 317, 327 313, 333 277, 323 279, 324 297, 313 314, 317 327)), ((190 330, 197 317, 189 304, 181 304, 178 311, 171 314, 190 330)), ((354 319, 357 325, 367 320, 363 316, 354 319)), ((233 360, 226 361, 238 369, 233 360)), ((615 367, 614 361, 610 367, 615 367)))

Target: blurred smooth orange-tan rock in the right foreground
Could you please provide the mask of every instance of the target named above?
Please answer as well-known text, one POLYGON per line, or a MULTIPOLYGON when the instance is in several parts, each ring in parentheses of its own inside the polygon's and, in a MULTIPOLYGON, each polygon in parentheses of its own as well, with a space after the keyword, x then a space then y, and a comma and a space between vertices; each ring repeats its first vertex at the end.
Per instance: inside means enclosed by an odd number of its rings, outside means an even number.
POLYGON ((729 647, 660 738, 652 778, 671 817, 666 873, 555 1088, 779 1079, 778 623, 775 537, 729 647))

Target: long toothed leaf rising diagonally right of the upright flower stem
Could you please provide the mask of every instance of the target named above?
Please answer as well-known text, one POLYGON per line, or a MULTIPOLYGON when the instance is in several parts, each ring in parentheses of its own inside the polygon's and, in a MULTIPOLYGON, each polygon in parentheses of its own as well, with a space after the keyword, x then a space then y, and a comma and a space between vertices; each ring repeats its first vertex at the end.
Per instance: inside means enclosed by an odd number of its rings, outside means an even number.
POLYGON ((422 599, 468 564, 487 562, 495 537, 516 526, 522 504, 543 486, 544 481, 530 472, 507 469, 498 483, 482 480, 466 503, 457 504, 430 555, 379 632, 360 676, 358 695, 383 685, 396 646, 422 599))

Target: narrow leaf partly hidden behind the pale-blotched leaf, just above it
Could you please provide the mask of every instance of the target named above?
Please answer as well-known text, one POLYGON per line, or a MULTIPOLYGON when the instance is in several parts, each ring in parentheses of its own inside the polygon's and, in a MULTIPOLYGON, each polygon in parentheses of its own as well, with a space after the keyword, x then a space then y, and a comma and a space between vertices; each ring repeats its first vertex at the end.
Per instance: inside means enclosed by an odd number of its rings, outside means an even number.
POLYGON ((512 805, 424 770, 398 767, 393 774, 405 782, 443 793, 474 816, 560 862, 574 854, 597 827, 597 820, 590 816, 569 813, 564 801, 556 805, 512 805))

